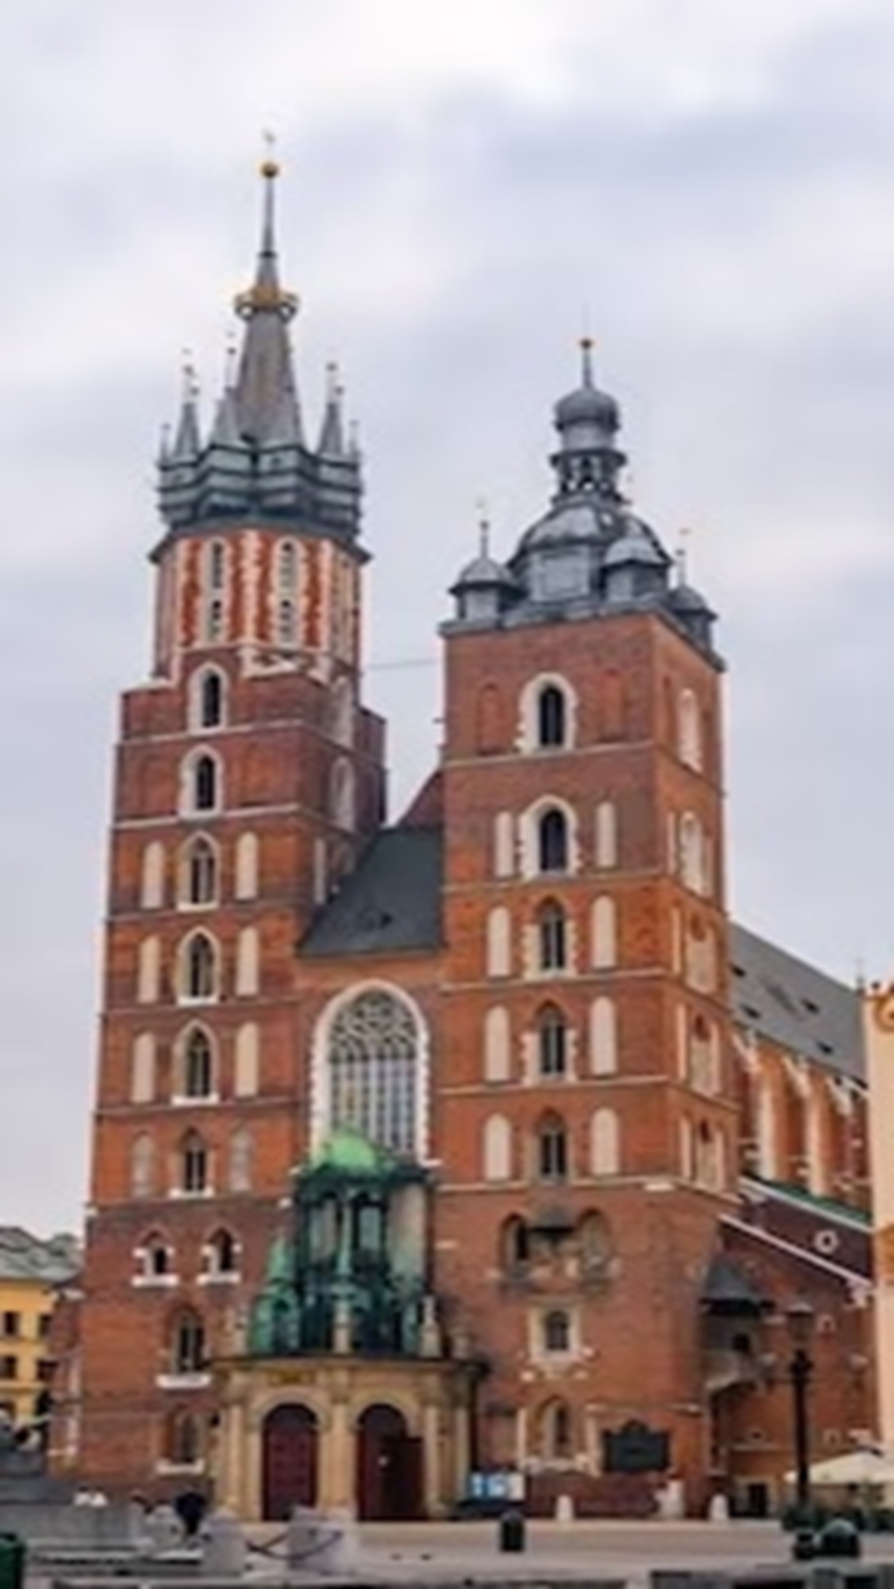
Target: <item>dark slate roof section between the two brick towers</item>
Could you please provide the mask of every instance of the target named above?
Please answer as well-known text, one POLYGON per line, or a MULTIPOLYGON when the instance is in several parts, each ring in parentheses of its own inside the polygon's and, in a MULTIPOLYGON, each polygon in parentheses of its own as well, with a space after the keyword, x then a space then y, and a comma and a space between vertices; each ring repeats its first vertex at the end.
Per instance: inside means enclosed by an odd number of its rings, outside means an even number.
POLYGON ((311 923, 303 955, 389 955, 441 941, 441 834, 386 828, 311 923))

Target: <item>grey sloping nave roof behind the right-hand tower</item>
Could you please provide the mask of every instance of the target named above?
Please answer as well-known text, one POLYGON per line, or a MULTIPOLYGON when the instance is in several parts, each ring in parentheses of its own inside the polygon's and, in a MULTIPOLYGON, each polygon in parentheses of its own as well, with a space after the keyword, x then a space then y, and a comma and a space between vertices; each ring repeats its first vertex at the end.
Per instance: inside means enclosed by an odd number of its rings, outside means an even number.
POLYGON ((792 1054, 864 1079, 859 995, 745 926, 730 925, 730 1003, 738 1025, 792 1054))

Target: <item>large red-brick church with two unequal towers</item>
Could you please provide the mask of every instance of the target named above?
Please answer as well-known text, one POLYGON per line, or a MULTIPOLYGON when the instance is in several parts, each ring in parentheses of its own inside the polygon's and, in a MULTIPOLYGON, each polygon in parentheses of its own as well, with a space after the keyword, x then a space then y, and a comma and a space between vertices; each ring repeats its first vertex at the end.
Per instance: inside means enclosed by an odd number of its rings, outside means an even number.
POLYGON ((276 175, 238 359, 159 458, 57 1465, 246 1516, 764 1511, 791 1303, 815 1451, 873 1429, 857 995, 729 922, 716 618, 586 345, 386 817, 362 462, 335 378, 302 410, 276 175))

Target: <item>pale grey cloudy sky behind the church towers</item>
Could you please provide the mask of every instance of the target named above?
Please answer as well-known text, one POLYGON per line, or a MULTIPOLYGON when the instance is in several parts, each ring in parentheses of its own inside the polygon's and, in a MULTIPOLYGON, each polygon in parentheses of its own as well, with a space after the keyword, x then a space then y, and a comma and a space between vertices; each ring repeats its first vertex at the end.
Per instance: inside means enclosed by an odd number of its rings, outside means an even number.
POLYGON ((305 405, 335 354, 362 424, 395 804, 475 502, 499 548, 543 505, 586 323, 723 617, 734 912, 894 968, 892 70, 889 0, 5 0, 0 1224, 79 1220, 151 459, 184 346, 218 386, 264 127, 305 405))

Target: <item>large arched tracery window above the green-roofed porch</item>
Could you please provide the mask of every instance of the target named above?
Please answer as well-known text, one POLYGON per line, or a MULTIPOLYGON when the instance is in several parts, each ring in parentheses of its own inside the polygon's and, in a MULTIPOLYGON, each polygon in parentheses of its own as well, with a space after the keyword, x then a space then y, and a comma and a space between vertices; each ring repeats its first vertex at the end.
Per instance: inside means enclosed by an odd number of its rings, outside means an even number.
POLYGON ((360 993, 329 1033, 329 1125, 353 1125, 383 1147, 419 1150, 419 1054, 407 1004, 384 990, 360 993))

